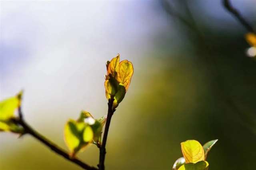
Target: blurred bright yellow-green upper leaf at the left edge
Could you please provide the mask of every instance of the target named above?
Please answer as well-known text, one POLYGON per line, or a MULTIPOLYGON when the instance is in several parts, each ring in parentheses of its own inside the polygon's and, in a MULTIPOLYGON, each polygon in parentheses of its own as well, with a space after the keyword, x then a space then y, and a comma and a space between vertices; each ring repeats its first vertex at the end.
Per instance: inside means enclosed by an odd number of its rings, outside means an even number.
POLYGON ((20 106, 22 92, 17 96, 0 102, 0 120, 8 120, 14 117, 14 111, 20 106))

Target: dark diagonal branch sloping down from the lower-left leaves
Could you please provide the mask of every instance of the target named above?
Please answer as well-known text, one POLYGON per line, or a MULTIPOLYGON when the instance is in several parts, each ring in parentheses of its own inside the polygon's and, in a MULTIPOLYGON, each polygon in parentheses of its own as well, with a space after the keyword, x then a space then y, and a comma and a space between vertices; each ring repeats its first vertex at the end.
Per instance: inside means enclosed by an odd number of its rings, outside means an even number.
POLYGON ((63 149, 58 147, 56 144, 52 143, 48 139, 46 139, 43 135, 35 131, 32 127, 30 127, 26 121, 24 121, 22 116, 21 107, 18 108, 18 114, 19 118, 13 119, 14 123, 17 123, 21 125, 24 128, 24 134, 30 134, 32 137, 36 138, 38 141, 42 142, 44 145, 46 145, 48 148, 50 148, 52 151, 54 151, 56 154, 59 154, 60 156, 63 156, 65 159, 69 160, 70 162, 73 162, 74 164, 77 164, 81 168, 85 170, 98 170, 98 168, 95 168, 93 166, 89 166, 88 164, 82 162, 81 160, 77 158, 71 158, 68 153, 66 153, 63 149))

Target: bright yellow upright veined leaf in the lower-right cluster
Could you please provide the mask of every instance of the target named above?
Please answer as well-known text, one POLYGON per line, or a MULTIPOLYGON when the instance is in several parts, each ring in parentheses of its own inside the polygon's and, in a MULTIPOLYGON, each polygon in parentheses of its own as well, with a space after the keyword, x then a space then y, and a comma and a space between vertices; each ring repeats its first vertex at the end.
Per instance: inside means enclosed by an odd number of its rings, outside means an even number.
POLYGON ((198 141, 188 140, 182 142, 180 145, 186 163, 196 163, 204 160, 204 149, 198 141))

